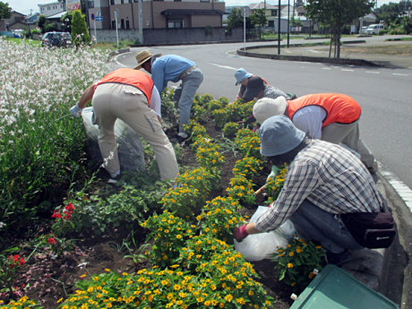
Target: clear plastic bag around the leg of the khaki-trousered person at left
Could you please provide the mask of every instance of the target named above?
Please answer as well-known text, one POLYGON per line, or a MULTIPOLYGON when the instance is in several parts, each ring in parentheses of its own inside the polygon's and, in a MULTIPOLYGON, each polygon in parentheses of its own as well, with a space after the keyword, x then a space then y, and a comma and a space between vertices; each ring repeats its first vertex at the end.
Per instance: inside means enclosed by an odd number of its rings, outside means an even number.
MULTIPOLYGON (((83 124, 89 137, 89 154, 93 164, 97 167, 103 163, 99 149, 99 125, 92 124, 93 108, 87 107, 82 111, 83 124)), ((115 124, 117 153, 120 168, 124 170, 143 171, 145 169, 144 152, 141 137, 120 119, 115 124)))

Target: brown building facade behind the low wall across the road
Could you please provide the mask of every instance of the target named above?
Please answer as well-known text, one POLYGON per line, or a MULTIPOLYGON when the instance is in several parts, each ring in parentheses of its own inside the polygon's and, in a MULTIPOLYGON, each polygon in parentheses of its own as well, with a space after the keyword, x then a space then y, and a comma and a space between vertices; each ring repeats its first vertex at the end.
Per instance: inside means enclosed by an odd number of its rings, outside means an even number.
MULTIPOLYGON (((139 29, 138 0, 92 0, 88 2, 90 30, 139 29), (102 21, 92 21, 91 14, 102 21)), ((217 0, 142 0, 142 28, 180 29, 222 27, 225 3, 217 0)))

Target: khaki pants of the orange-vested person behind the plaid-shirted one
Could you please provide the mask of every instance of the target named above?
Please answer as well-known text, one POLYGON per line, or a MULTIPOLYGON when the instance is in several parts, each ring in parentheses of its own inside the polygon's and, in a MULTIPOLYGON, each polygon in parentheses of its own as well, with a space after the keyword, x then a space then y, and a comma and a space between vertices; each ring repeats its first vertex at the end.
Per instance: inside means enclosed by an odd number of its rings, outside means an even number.
POLYGON ((359 153, 365 167, 373 167, 373 154, 362 142, 359 135, 359 119, 352 124, 333 123, 322 128, 322 141, 334 144, 341 142, 347 145, 351 150, 359 153))

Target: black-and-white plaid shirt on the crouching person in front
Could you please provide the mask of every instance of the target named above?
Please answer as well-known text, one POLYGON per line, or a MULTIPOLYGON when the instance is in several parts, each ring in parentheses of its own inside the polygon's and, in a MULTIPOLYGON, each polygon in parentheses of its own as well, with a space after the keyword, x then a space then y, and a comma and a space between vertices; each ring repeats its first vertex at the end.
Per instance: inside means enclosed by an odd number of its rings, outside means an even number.
POLYGON ((379 212, 378 189, 364 164, 339 145, 311 141, 288 167, 278 199, 255 222, 268 232, 278 228, 307 199, 333 214, 379 212))

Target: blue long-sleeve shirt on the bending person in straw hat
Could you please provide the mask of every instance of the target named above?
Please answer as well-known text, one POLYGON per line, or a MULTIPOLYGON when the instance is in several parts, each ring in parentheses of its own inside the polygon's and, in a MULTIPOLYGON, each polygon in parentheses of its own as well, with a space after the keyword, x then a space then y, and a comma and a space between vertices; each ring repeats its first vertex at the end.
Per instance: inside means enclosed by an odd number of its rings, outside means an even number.
POLYGON ((167 82, 178 82, 180 75, 193 65, 196 64, 183 56, 166 55, 154 58, 151 64, 151 79, 161 93, 167 87, 167 82))

